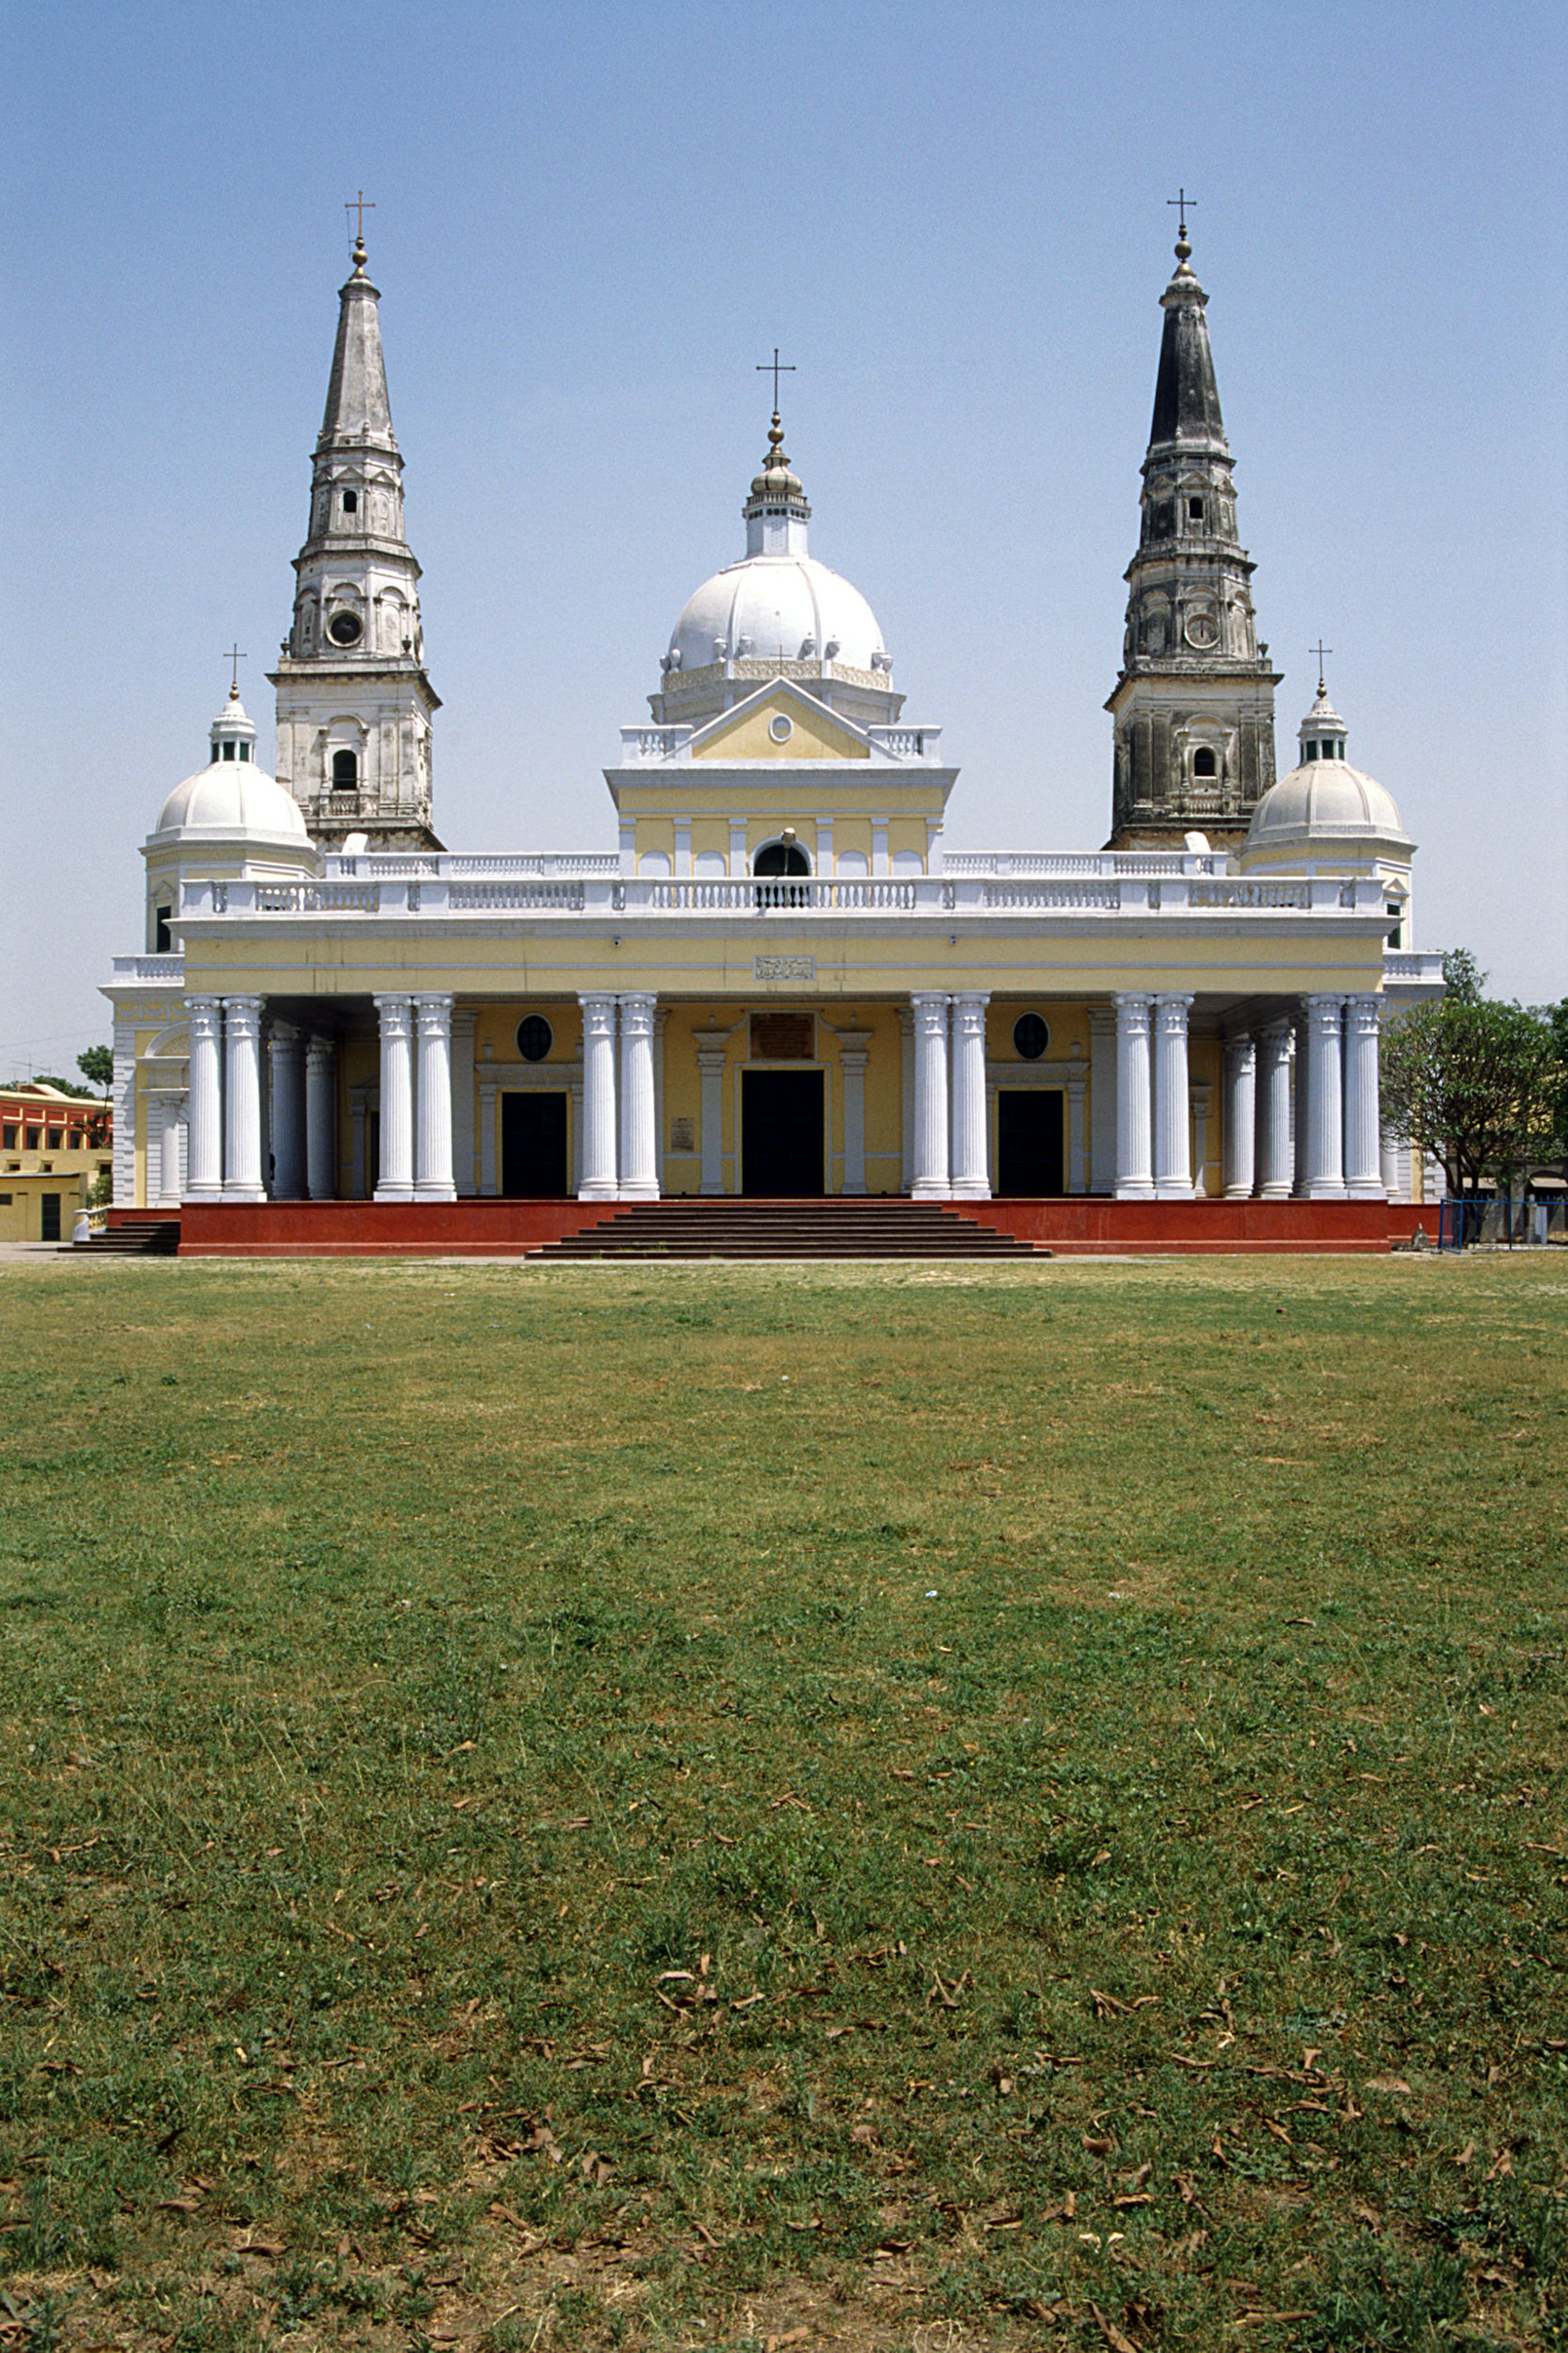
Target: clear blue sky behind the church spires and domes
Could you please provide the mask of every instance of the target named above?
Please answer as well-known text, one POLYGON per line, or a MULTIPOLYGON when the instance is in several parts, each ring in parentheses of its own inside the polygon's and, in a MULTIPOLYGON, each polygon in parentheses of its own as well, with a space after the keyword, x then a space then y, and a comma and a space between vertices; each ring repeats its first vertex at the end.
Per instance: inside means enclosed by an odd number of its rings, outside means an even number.
POLYGON ((1097 847, 1180 184, 1290 765, 1326 638, 1417 944, 1568 993, 1568 19, 1502 5, 381 0, 2 12, 0 1075, 108 1035, 137 845, 238 638, 271 755, 365 188, 436 816, 612 847, 600 769, 744 546, 775 344, 812 553, 961 762, 1097 847))

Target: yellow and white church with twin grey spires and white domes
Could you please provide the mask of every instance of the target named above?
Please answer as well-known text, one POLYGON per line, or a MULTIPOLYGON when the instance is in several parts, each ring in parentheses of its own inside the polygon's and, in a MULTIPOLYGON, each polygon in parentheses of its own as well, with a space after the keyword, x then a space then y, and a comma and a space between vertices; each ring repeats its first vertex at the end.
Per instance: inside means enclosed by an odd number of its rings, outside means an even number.
POLYGON ((520 1252, 655 1202, 713 1233, 725 1200, 881 1198, 878 1231, 909 1200, 1052 1249, 1387 1249, 1420 1169, 1380 1139, 1377 1035, 1441 958, 1323 680, 1276 781, 1184 226, 1161 304, 1102 849, 944 852, 958 769, 810 553, 777 407, 744 553, 619 732, 605 847, 447 849, 358 242, 278 772, 235 687, 141 845, 111 1217, 202 1254, 520 1252))

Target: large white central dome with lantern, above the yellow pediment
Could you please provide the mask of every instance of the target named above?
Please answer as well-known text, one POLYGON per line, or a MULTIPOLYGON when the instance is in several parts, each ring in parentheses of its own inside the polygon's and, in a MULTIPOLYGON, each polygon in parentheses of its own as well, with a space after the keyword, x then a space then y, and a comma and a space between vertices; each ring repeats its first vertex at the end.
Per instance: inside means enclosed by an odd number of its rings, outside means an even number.
POLYGON ((897 720, 892 656, 859 588, 808 553, 810 501, 772 412, 768 452, 742 506, 746 553, 687 598, 650 694, 662 727, 702 727, 789 678, 859 727, 897 720))

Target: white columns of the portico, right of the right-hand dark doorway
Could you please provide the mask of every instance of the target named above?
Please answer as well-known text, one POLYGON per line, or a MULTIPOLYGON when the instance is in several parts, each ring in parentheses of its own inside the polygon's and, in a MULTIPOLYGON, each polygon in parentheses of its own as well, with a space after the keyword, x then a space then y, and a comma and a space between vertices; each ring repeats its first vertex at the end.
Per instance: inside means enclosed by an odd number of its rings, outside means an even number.
MULTIPOLYGON (((1191 1200, 1187 1014, 1180 991, 1116 1000, 1116 1193, 1191 1200)), ((1375 995, 1314 993, 1224 1040, 1224 1198, 1377 1200, 1375 995)))

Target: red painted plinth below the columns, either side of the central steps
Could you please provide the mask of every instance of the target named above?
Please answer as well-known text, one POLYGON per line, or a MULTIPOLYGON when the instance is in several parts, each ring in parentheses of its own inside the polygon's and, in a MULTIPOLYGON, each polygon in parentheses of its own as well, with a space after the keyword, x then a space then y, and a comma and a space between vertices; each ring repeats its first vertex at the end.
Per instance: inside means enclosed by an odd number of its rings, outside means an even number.
MULTIPOLYGON (((692 1205, 697 1207, 697 1202, 692 1205)), ((720 1202, 702 1202, 702 1212, 720 1202)), ((810 1219, 810 1202, 791 1205, 810 1219)), ((833 1209, 852 1207, 833 1200, 833 1209)), ((881 1212, 890 1202, 876 1202, 881 1212)), ((1057 1257, 1147 1252, 1387 1252, 1436 1209, 1382 1200, 954 1200, 944 1207, 1057 1257)), ((146 1217, 120 1209, 111 1219, 146 1217)), ((268 1200, 186 1202, 181 1259, 527 1257, 617 1214, 584 1200, 268 1200)))

